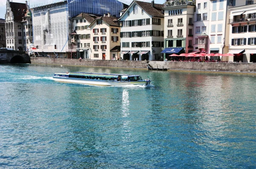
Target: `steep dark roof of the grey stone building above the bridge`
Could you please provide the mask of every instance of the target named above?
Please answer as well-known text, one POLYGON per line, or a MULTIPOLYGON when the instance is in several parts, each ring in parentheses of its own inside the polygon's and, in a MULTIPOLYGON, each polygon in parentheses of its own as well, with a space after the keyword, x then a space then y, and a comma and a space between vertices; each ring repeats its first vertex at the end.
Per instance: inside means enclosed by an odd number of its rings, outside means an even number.
POLYGON ((15 21, 22 21, 22 17, 25 16, 27 11, 26 3, 14 3, 10 2, 10 7, 12 8, 12 13, 14 15, 15 21))

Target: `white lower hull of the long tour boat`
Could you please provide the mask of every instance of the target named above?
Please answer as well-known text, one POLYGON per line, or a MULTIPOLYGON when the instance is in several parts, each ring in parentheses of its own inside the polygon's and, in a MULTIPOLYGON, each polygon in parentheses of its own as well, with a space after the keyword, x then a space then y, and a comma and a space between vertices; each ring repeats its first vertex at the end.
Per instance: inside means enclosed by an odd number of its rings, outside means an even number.
POLYGON ((108 80, 94 80, 94 79, 73 79, 65 77, 55 77, 53 80, 57 82, 66 82, 66 83, 79 83, 85 85, 95 85, 95 86, 126 86, 126 85, 140 85, 146 86, 150 84, 150 81, 134 81, 134 82, 122 82, 122 81, 108 81, 108 80))

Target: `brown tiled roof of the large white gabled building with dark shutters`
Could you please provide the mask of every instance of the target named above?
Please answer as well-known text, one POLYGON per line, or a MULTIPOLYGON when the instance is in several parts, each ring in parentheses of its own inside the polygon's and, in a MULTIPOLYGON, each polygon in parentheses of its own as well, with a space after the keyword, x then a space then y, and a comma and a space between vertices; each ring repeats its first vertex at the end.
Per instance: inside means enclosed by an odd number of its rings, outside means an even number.
POLYGON ((164 17, 164 14, 162 14, 163 4, 155 3, 154 7, 152 7, 151 3, 137 0, 134 0, 134 2, 137 3, 149 15, 153 17, 164 17))

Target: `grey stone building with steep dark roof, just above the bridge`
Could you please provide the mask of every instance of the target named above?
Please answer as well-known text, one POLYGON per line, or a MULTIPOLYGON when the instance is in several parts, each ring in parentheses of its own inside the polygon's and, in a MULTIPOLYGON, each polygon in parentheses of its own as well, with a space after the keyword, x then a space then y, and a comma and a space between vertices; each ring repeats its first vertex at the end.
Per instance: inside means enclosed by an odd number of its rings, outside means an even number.
POLYGON ((6 47, 24 51, 23 48, 23 24, 22 18, 27 11, 26 3, 14 3, 6 1, 6 47))

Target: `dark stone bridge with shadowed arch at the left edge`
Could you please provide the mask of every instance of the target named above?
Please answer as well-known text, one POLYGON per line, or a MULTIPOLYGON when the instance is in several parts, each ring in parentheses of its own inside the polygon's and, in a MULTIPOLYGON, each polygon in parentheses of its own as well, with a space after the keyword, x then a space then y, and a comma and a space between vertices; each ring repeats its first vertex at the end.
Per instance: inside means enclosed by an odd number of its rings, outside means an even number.
POLYGON ((0 49, 0 63, 31 63, 25 51, 0 49))

